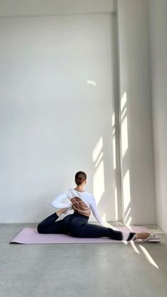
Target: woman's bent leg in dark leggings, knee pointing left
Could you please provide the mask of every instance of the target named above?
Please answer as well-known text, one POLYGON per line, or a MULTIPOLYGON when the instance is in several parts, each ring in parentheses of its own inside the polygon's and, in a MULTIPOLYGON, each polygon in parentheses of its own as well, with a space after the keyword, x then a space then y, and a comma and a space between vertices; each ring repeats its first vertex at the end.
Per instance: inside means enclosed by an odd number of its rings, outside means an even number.
POLYGON ((38 232, 44 234, 63 234, 65 230, 62 220, 58 220, 57 222, 55 222, 55 220, 57 220, 57 218, 59 218, 59 215, 64 213, 64 211, 66 210, 59 210, 56 213, 52 213, 52 215, 49 215, 47 218, 45 218, 45 220, 42 220, 42 222, 38 224, 38 232))

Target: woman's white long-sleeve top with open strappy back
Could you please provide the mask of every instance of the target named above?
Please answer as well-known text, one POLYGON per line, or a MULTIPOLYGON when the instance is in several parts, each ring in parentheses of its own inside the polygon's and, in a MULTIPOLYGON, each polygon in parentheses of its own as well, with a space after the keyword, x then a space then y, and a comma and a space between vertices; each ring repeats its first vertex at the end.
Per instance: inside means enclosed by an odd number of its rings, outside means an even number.
POLYGON ((92 211, 94 217, 96 218, 96 220, 98 221, 98 223, 102 226, 104 225, 103 220, 102 220, 100 213, 98 211, 96 200, 95 200, 93 194, 91 194, 91 193, 79 192, 79 191, 76 191, 75 189, 68 189, 67 191, 62 192, 56 198, 54 198, 54 200, 50 203, 50 206, 57 208, 57 209, 69 208, 69 210, 71 210, 73 208, 72 208, 72 203, 71 203, 70 199, 74 198, 74 197, 81 198, 81 200, 84 201, 84 203, 86 203, 86 206, 88 206, 91 209, 91 211, 92 211))

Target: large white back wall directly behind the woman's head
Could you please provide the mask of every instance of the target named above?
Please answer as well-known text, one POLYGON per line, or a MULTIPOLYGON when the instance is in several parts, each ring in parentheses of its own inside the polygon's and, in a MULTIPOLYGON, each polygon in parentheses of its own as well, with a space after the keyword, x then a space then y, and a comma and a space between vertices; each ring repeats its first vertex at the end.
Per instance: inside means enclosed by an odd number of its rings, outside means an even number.
POLYGON ((1 222, 49 215, 79 170, 115 220, 112 22, 107 13, 0 19, 1 222))

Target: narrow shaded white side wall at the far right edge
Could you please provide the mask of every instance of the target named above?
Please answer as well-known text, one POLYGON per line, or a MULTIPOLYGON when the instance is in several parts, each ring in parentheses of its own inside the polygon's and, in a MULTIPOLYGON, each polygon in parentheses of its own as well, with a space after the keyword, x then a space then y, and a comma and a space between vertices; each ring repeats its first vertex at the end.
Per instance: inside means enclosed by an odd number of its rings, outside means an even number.
POLYGON ((167 232, 167 1, 148 4, 157 224, 167 232))

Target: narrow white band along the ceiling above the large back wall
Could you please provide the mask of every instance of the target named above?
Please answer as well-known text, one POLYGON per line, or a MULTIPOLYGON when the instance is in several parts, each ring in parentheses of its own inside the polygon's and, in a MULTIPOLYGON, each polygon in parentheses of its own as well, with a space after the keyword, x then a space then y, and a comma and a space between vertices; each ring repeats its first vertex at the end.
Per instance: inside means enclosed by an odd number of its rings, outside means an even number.
POLYGON ((0 0, 0 16, 55 16, 115 11, 115 0, 0 0))

